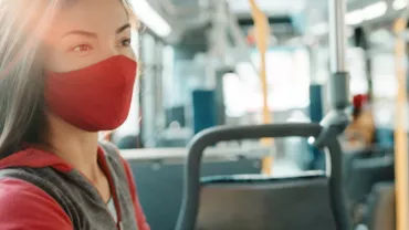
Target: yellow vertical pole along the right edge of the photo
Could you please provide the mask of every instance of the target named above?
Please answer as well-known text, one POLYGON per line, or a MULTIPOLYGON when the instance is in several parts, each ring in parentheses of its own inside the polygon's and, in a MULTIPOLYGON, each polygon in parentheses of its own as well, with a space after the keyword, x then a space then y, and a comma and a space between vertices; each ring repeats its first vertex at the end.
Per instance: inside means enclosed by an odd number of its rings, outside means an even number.
MULTIPOLYGON (((400 18, 395 22, 396 34, 406 30, 407 19, 400 18)), ((409 229, 409 176, 408 176, 408 136, 406 130, 406 41, 398 38, 395 43, 395 65, 398 82, 396 97, 395 124, 395 178, 396 178, 396 213, 397 230, 409 229)))

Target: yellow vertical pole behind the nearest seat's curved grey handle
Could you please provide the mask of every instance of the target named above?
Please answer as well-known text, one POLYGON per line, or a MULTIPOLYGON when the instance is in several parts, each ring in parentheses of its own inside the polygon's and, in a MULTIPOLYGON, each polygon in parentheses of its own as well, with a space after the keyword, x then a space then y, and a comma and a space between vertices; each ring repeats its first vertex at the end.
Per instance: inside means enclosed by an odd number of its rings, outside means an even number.
MULTIPOLYGON (((261 79, 261 90, 263 95, 263 124, 271 123, 271 114, 269 109, 269 91, 268 91, 268 81, 266 81, 266 63, 265 54, 269 45, 270 38, 270 25, 269 20, 265 14, 258 8, 254 0, 249 0, 251 7, 251 15, 254 21, 254 31, 255 31, 255 43, 260 52, 260 79, 261 79)), ((271 138, 263 139, 264 145, 272 146, 273 140, 271 138)), ((273 163, 273 157, 265 157, 262 163, 262 172, 271 174, 271 166, 273 163)))

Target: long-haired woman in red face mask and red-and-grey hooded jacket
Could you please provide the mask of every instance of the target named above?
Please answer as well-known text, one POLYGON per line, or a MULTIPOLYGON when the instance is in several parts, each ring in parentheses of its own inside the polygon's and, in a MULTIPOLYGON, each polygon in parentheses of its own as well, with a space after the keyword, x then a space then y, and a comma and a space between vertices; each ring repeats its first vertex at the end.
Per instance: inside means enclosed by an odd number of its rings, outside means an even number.
POLYGON ((148 230, 98 132, 127 117, 137 63, 122 0, 0 1, 0 229, 148 230))

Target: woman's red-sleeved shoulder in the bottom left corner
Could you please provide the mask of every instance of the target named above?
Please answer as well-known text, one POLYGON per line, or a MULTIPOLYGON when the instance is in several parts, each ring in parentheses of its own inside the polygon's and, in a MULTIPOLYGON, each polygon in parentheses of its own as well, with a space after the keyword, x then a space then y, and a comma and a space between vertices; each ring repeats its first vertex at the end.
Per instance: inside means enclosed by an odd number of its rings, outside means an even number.
POLYGON ((0 229, 73 229, 52 197, 22 179, 0 179, 0 229))

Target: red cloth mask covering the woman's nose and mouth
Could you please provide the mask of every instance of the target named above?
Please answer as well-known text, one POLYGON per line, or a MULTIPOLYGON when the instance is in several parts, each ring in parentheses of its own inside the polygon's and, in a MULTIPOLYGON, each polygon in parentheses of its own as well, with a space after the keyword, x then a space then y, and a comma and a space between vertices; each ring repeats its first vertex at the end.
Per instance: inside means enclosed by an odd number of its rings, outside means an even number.
POLYGON ((49 73, 46 105, 81 129, 115 129, 128 116, 136 69, 134 60, 117 55, 78 71, 49 73))

